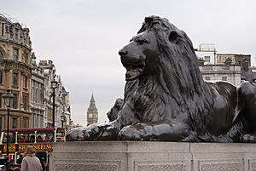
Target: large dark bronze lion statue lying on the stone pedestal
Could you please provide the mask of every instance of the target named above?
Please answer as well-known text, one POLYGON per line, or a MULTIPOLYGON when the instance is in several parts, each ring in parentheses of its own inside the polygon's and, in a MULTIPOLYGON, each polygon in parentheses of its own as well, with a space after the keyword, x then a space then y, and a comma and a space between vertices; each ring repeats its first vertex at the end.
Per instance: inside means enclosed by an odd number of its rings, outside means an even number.
POLYGON ((125 97, 113 122, 74 128, 67 140, 255 142, 256 87, 206 83, 184 31, 146 17, 119 50, 125 97))

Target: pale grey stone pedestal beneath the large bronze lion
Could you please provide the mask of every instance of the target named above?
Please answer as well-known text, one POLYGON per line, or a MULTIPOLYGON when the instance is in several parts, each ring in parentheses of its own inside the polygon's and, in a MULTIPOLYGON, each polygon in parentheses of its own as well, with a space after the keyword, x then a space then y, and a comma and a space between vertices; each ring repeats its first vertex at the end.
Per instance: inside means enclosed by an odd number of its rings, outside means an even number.
POLYGON ((256 171, 256 144, 56 143, 50 171, 256 171))

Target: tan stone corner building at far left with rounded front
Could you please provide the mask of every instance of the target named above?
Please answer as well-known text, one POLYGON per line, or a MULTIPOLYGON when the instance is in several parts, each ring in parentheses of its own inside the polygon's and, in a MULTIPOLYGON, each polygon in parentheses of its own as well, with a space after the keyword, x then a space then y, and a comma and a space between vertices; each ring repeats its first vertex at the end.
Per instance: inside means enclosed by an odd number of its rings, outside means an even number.
MULTIPOLYGON (((0 97, 7 89, 14 94, 10 128, 29 128, 32 123, 32 43, 29 29, 0 14, 0 97)), ((0 98, 0 128, 7 128, 7 114, 0 98)))

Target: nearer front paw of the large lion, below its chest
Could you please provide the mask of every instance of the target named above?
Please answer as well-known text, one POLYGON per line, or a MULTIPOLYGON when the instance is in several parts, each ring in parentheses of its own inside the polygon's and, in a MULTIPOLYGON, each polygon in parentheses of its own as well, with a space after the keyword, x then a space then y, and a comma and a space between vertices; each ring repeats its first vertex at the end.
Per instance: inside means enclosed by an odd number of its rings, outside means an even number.
POLYGON ((143 135, 137 129, 127 126, 119 131, 118 140, 143 140, 143 135))

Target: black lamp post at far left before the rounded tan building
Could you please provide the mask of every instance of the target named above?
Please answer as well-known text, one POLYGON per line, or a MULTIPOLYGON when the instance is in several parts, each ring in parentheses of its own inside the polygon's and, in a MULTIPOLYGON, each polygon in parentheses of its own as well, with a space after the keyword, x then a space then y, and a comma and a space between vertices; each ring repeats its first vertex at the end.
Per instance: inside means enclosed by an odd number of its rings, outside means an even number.
MULTIPOLYGON (((11 94, 10 89, 6 90, 6 94, 3 94, 4 104, 7 107, 7 142, 6 142, 6 156, 9 161, 9 110, 11 109, 14 101, 14 95, 11 94)), ((8 167, 8 166, 7 166, 8 167)))

